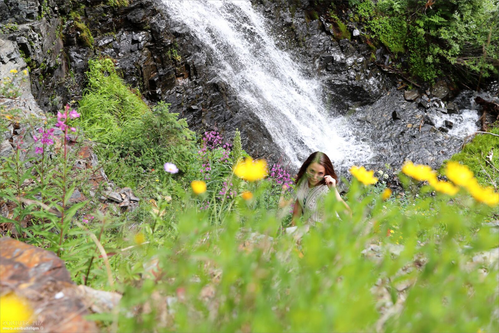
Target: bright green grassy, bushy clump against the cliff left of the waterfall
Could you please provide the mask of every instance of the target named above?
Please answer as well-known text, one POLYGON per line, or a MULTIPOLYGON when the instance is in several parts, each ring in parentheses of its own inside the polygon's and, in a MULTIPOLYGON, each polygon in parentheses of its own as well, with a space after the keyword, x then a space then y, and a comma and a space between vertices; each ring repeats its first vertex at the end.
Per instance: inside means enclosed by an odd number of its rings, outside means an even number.
POLYGON ((195 151, 194 133, 178 113, 159 103, 152 110, 138 91, 130 89, 109 58, 89 60, 88 87, 79 102, 79 125, 95 146, 104 170, 120 186, 151 186, 144 174, 160 170, 165 162, 186 172, 195 151))

